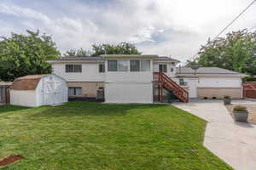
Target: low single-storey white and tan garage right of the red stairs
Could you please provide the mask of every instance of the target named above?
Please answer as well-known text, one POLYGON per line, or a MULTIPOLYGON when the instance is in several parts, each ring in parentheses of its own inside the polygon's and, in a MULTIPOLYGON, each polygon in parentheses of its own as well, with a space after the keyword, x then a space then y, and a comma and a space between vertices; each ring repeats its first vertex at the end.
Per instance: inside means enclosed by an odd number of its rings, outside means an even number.
POLYGON ((196 71, 189 67, 177 68, 177 77, 186 82, 190 98, 223 99, 228 95, 242 99, 241 78, 246 76, 218 67, 201 67, 196 71))

